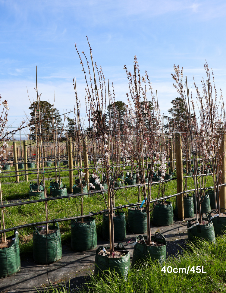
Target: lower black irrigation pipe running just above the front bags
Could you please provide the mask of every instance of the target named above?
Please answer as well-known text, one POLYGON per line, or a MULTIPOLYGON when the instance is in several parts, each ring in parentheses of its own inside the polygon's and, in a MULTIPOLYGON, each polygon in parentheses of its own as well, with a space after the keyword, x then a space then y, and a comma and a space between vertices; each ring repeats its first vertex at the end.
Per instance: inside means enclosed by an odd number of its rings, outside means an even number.
MULTIPOLYGON (((139 186, 140 184, 136 184, 136 186, 137 185, 139 186)), ((224 185, 226 185, 226 183, 220 184, 219 186, 224 186, 224 185)), ((128 185, 128 186, 130 186, 130 185, 128 185)), ((212 188, 214 188, 214 186, 207 187, 206 189, 212 189, 212 188)), ((204 189, 204 188, 201 188, 201 189, 204 189)), ((177 195, 180 195, 180 194, 184 194, 184 193, 187 193, 187 192, 190 192, 190 191, 194 191, 194 190, 195 189, 190 189, 190 190, 179 192, 177 194, 172 194, 172 195, 168 195, 168 196, 164 196, 164 197, 155 198, 155 199, 151 200, 150 203, 154 203, 154 202, 159 201, 159 200, 168 199, 168 198, 171 198, 171 197, 174 197, 174 196, 177 196, 177 195)), ((87 194, 87 193, 85 193, 85 194, 87 194)), ((61 197, 61 198, 65 198, 65 197, 61 197)), ((130 206, 139 206, 139 205, 140 205, 140 203, 124 204, 122 206, 114 207, 113 210, 123 209, 123 208, 127 208, 127 207, 130 207, 130 206)), ((53 220, 43 221, 43 222, 29 223, 29 224, 16 226, 16 227, 13 227, 13 228, 0 230, 0 233, 10 232, 10 231, 14 231, 14 230, 21 229, 21 228, 33 227, 33 226, 36 226, 36 225, 45 225, 45 224, 51 224, 51 223, 56 223, 56 222, 64 222, 64 221, 70 221, 70 220, 76 220, 76 219, 82 219, 82 218, 84 219, 84 218, 89 218, 89 217, 92 217, 92 216, 97 216, 97 215, 100 215, 100 214, 103 214, 103 213, 106 213, 106 212, 108 212, 107 209, 99 211, 99 212, 96 212, 96 213, 89 213, 88 215, 83 215, 83 216, 67 217, 67 218, 53 219, 53 220)))

